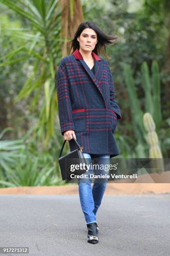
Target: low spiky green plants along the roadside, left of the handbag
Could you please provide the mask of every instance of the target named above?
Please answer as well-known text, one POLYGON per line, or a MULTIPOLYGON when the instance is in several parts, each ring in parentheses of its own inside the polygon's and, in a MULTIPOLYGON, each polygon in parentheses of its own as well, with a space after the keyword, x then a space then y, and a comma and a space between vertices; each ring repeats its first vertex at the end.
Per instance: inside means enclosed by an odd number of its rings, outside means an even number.
POLYGON ((60 143, 50 141, 51 147, 44 150, 31 132, 20 141, 0 141, 0 187, 65 184, 57 161, 60 143))

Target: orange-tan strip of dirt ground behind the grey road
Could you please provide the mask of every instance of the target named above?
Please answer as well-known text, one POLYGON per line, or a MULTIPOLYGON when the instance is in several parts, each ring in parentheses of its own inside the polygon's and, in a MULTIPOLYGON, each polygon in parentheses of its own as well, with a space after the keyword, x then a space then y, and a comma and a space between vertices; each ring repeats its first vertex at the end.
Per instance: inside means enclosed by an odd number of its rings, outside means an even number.
MULTIPOLYGON (((170 171, 162 174, 144 174, 137 179, 108 182, 105 195, 139 195, 170 193, 170 171), (168 183, 169 182, 169 183, 168 183)), ((1 188, 0 195, 78 195, 77 184, 64 186, 8 187, 1 188)))

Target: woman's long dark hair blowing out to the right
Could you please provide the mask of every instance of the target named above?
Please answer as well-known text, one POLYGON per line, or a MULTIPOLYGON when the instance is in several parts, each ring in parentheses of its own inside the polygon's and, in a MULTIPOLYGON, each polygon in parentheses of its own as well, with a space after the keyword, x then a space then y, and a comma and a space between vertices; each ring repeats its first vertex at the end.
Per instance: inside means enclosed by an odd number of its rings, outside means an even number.
POLYGON ((97 55, 101 53, 106 59, 111 59, 106 53, 105 45, 114 44, 114 42, 120 39, 120 37, 105 35, 105 33, 103 33, 101 29, 92 21, 85 21, 80 23, 80 25, 77 28, 77 31, 74 34, 74 38, 69 42, 70 44, 69 44, 68 55, 70 54, 71 50, 73 53, 76 49, 80 49, 80 44, 77 41, 77 37, 80 36, 80 34, 85 28, 92 28, 97 33, 98 41, 97 41, 97 44, 95 45, 95 48, 93 49, 93 52, 97 55))

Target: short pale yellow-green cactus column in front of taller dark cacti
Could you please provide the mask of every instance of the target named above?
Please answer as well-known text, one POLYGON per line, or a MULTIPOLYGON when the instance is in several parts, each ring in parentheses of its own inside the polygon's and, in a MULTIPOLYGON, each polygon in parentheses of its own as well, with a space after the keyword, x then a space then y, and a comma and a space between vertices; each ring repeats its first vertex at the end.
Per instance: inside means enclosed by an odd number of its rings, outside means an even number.
POLYGON ((150 113, 145 113, 143 115, 143 124, 146 132, 148 133, 148 144, 149 148, 149 158, 158 158, 158 163, 155 165, 155 161, 153 161, 153 171, 155 168, 160 169, 161 172, 164 170, 163 164, 163 155, 159 147, 158 135, 155 132, 155 123, 153 121, 152 115, 150 113), (162 160, 161 160, 162 159, 162 160))

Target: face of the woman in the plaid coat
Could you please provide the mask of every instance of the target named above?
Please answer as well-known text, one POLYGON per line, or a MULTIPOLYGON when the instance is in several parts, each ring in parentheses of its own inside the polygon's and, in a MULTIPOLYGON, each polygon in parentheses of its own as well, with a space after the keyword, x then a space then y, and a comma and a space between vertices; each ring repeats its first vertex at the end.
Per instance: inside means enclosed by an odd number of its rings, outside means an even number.
POLYGON ((83 51, 92 51, 97 44, 97 33, 92 28, 85 28, 80 37, 77 37, 77 41, 83 51))

